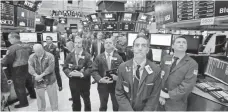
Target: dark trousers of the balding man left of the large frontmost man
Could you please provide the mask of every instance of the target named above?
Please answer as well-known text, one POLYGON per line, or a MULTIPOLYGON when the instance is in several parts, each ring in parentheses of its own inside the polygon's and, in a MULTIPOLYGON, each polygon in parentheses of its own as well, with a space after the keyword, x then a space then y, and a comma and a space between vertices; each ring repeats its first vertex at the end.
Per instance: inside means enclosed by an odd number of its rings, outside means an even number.
POLYGON ((118 103, 115 97, 115 84, 98 84, 98 93, 100 97, 99 111, 107 111, 109 94, 112 100, 113 111, 118 111, 118 103))

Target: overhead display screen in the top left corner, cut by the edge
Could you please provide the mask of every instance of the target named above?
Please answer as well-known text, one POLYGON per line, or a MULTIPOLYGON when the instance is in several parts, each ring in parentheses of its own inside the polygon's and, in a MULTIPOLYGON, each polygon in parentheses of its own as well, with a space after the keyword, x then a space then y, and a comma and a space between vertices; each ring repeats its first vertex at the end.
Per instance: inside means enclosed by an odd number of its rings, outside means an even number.
POLYGON ((14 26, 14 6, 7 3, 0 3, 1 25, 14 26))

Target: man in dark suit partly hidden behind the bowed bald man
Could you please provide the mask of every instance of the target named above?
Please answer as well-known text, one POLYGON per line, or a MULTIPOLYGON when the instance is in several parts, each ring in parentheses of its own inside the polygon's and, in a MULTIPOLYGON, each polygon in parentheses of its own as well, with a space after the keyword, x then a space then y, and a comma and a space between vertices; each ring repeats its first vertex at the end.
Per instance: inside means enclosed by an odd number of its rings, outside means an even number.
POLYGON ((52 42, 53 38, 51 36, 46 37, 47 45, 44 46, 44 50, 53 54, 55 57, 55 75, 57 79, 57 84, 59 86, 59 91, 62 91, 62 79, 59 72, 59 49, 52 42))

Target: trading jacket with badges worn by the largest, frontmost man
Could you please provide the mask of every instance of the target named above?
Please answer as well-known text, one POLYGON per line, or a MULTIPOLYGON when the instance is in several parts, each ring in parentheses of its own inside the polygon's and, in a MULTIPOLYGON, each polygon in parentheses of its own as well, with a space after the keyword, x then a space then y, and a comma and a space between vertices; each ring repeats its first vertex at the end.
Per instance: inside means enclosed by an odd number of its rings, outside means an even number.
POLYGON ((154 111, 157 109, 161 90, 160 68, 147 60, 145 66, 150 66, 152 73, 144 68, 140 79, 135 105, 133 105, 133 59, 122 63, 118 70, 116 82, 116 99, 119 111, 154 111))

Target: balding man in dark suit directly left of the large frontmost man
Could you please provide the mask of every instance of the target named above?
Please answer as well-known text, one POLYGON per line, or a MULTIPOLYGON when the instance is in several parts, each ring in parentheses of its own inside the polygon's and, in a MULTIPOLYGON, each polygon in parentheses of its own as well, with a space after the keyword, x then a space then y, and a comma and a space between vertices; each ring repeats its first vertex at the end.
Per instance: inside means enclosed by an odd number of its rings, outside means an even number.
POLYGON ((112 39, 107 38, 104 43, 105 52, 101 53, 95 58, 92 68, 92 76, 98 83, 98 93, 100 97, 100 111, 107 110, 107 103, 109 94, 111 96, 113 111, 118 110, 118 103, 115 97, 115 85, 117 74, 110 74, 108 77, 106 71, 117 69, 123 62, 122 58, 114 51, 114 42, 112 39), (113 80, 111 80, 111 78, 113 80))

